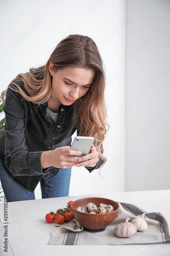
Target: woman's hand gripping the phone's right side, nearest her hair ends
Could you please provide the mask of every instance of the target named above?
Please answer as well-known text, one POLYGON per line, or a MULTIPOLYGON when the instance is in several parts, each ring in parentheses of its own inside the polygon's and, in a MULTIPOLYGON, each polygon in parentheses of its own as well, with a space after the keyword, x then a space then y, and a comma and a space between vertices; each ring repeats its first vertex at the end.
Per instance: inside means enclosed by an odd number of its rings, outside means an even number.
POLYGON ((77 163, 76 166, 94 167, 99 161, 98 155, 99 153, 96 151, 96 147, 94 146, 94 144, 92 144, 89 153, 85 156, 78 158, 78 161, 80 161, 80 163, 77 163))

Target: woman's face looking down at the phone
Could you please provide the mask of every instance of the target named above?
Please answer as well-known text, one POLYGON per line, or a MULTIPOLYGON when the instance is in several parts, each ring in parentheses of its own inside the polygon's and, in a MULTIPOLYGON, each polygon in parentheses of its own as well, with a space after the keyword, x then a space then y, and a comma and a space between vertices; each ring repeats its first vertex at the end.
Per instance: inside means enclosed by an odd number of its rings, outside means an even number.
POLYGON ((95 72, 91 69, 67 67, 55 73, 52 68, 53 64, 50 61, 49 71, 53 76, 50 98, 54 101, 59 100, 63 105, 71 105, 82 97, 89 90, 95 77, 95 72))

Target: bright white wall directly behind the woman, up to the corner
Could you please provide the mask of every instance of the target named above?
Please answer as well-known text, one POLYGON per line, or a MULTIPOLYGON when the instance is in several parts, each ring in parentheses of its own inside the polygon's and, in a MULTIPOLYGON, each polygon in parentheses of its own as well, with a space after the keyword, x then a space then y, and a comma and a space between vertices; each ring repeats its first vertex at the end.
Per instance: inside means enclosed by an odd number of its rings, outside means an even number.
MULTIPOLYGON (((73 167, 69 195, 97 194, 125 190, 125 0, 99 1, 8 1, 0 2, 1 91, 18 73, 44 65, 58 42, 69 34, 91 37, 100 49, 106 67, 106 102, 110 129, 103 142, 107 163, 99 171, 89 173, 83 167, 73 167), (94 7, 93 7, 94 6, 94 7), (91 13, 89 13, 91 12, 91 13), (38 19, 37 25, 32 24, 38 19), (119 30, 116 30, 118 26, 119 30), (18 44, 17 38, 28 34, 18 44), (112 33, 110 36, 110 33, 112 33), (104 42, 105 43, 104 43, 104 42), (103 44, 103 45, 102 45, 103 44), (100 45, 102 47, 100 48, 100 45), (38 64, 38 65, 37 65, 38 64), (119 116, 118 112, 121 111, 119 116), (124 113, 124 114, 122 114, 124 113), (114 120, 114 121, 113 121, 114 120), (121 158, 118 163, 114 160, 121 158), (109 165, 112 164, 110 169, 109 165), (115 166, 114 166, 115 164, 115 166), (105 171, 105 173, 104 173, 105 171), (79 185, 77 185, 79 184, 79 185)), ((76 134, 75 134, 76 135, 76 134)), ((38 184, 36 198, 40 198, 38 184)))

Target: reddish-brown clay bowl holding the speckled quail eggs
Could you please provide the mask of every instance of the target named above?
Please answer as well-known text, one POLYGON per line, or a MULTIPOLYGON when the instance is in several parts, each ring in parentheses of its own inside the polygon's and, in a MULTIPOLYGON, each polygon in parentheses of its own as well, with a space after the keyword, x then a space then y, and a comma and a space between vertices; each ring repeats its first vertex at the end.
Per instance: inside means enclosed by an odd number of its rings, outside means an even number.
POLYGON ((85 230, 89 232, 98 232, 105 230, 106 227, 116 218, 119 211, 119 204, 107 198, 88 197, 72 202, 71 210, 73 212, 74 218, 84 227, 85 230), (94 203, 96 206, 98 206, 100 203, 112 205, 114 211, 104 214, 89 214, 76 210, 76 208, 79 206, 86 208, 86 205, 89 202, 94 203))

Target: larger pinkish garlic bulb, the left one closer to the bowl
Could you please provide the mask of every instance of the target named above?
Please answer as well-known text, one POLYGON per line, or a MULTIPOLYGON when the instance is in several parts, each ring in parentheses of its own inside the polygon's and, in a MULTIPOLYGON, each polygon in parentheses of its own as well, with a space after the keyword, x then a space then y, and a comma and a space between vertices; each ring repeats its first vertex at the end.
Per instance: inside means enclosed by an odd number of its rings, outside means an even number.
POLYGON ((114 232, 115 232, 116 236, 118 236, 118 237, 131 237, 134 234, 136 234, 136 232, 137 232, 136 226, 133 223, 128 222, 128 220, 130 220, 130 219, 127 218, 125 220, 125 222, 121 222, 120 224, 118 224, 115 227, 114 232))

